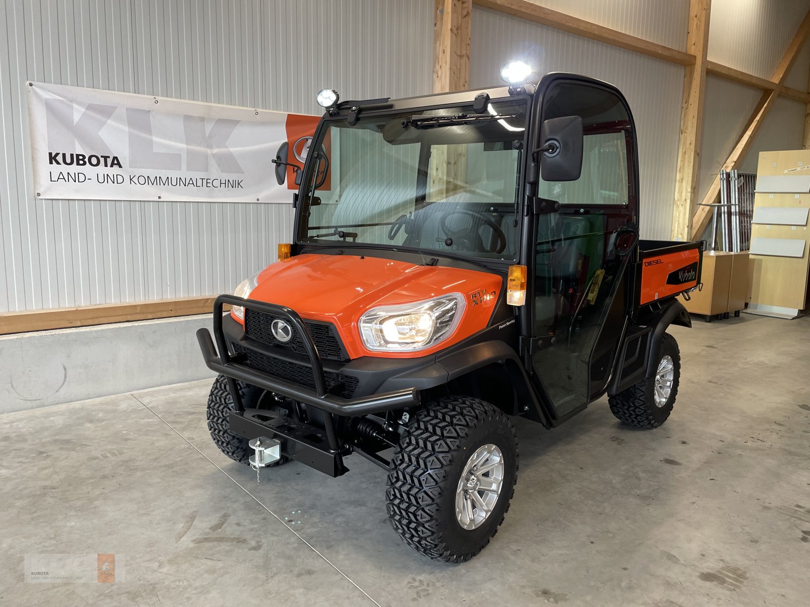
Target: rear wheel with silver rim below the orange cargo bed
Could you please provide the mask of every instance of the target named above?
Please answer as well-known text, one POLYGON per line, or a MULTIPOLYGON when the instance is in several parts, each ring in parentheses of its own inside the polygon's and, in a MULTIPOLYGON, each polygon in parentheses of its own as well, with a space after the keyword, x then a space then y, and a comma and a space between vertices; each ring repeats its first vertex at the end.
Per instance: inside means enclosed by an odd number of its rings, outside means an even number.
POLYGON ((655 369, 651 377, 639 380, 623 392, 608 397, 612 414, 621 422, 638 428, 657 428, 667 421, 672 412, 680 383, 680 350, 675 337, 669 333, 663 334, 655 369))

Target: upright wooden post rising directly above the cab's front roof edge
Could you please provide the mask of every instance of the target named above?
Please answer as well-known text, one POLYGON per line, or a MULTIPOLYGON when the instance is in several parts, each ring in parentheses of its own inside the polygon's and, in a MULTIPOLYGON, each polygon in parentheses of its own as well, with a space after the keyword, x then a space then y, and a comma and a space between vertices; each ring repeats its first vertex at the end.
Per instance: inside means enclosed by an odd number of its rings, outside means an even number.
POLYGON ((470 86, 472 0, 435 0, 433 12, 433 92, 470 86))

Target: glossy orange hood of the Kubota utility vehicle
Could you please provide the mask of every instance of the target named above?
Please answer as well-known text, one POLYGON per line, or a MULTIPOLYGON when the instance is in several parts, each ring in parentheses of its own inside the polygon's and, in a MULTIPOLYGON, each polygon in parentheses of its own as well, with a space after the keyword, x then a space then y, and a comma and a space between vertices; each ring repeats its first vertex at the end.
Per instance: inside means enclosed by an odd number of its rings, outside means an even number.
POLYGON ((432 354, 484 329, 501 285, 500 276, 483 271, 380 257, 305 254, 267 266, 249 298, 287 306, 303 318, 334 323, 352 359, 411 358, 432 354), (357 322, 364 312, 447 293, 461 293, 465 306, 454 333, 444 341, 418 352, 373 352, 363 346, 357 322))

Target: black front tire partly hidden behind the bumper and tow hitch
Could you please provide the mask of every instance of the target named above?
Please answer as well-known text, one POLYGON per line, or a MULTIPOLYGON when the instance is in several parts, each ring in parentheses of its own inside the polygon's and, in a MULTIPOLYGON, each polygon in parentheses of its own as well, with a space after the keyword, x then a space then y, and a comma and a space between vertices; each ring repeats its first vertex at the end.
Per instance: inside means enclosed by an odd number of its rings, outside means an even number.
MULTIPOLYGON (((254 408, 261 399, 264 391, 257 386, 245 384, 244 381, 236 381, 237 388, 239 388, 239 396, 242 399, 242 405, 244 405, 246 409, 254 408)), ((214 441, 214 444, 221 452, 230 457, 233 461, 249 465, 248 458, 253 452, 253 449, 249 448, 248 439, 231 431, 230 414, 231 411, 235 410, 236 407, 233 405, 231 393, 228 392, 227 378, 224 375, 216 376, 214 385, 211 386, 211 393, 208 394, 206 415, 211 440, 214 441)), ((271 466, 283 464, 285 461, 287 461, 287 458, 282 457, 279 461, 271 464, 271 466)))

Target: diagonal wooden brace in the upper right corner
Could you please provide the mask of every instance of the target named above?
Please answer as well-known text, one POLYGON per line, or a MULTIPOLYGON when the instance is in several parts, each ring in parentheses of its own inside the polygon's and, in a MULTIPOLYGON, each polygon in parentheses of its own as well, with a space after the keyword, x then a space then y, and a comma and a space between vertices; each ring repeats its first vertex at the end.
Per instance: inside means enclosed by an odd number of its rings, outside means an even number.
MULTIPOLYGON (((731 150, 731 154, 726 159, 726 162, 723 163, 723 169, 726 171, 738 168, 740 163, 745 159, 745 155, 748 154, 748 150, 751 148, 754 138, 757 137, 757 133, 763 121, 765 121, 765 117, 768 116, 770 109, 774 107, 778 99, 779 93, 782 92, 787 74, 790 73, 791 67, 793 67, 796 57, 799 56, 799 51, 804 46, 808 36, 810 36, 810 11, 808 11, 807 15, 804 15, 804 20, 799 25, 799 29, 796 30, 791 44, 787 46, 785 54, 782 55, 782 61, 779 62, 776 70, 774 70, 774 75, 771 78, 771 82, 775 85, 774 89, 763 93, 761 100, 757 104, 757 108, 754 109, 754 112, 748 119, 748 125, 746 125, 743 133, 740 135, 740 139, 737 141, 734 149, 731 150)), ((719 193, 720 176, 717 175, 710 185, 709 192, 703 197, 703 204, 716 202, 719 193)), ((697 207, 692 218, 692 235, 700 236, 701 232, 706 229, 711 217, 710 210, 711 208, 709 206, 697 207)))

